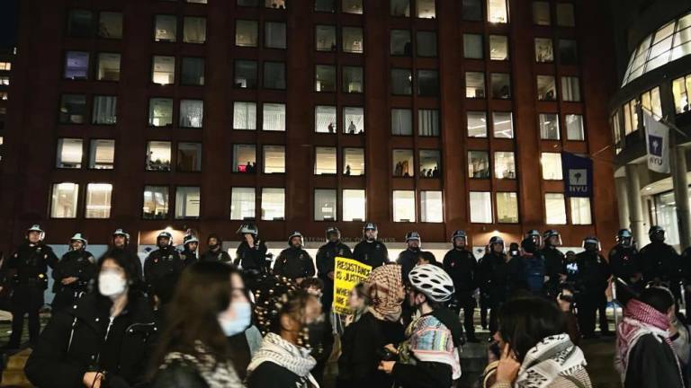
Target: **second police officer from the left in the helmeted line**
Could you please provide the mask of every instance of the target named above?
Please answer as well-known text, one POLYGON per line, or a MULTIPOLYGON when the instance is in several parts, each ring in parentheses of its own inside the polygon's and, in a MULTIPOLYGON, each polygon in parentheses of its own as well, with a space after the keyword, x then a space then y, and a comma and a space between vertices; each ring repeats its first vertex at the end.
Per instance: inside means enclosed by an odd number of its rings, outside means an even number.
POLYGON ((53 269, 53 292, 55 297, 50 304, 52 312, 71 307, 80 295, 86 292, 89 282, 97 271, 96 260, 86 251, 85 237, 77 233, 69 240, 69 251, 65 253, 53 269))

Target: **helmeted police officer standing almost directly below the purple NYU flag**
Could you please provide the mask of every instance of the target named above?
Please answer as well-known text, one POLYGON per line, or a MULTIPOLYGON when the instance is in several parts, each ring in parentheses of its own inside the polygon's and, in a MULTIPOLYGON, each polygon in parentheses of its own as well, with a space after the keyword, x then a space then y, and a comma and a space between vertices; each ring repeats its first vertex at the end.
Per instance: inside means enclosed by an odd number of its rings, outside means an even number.
POLYGON ((611 335, 606 317, 606 289, 612 272, 600 254, 600 241, 595 236, 583 240, 585 251, 576 255, 579 272, 576 274, 576 301, 579 304, 579 327, 585 338, 595 337, 595 313, 599 313, 600 332, 611 335))

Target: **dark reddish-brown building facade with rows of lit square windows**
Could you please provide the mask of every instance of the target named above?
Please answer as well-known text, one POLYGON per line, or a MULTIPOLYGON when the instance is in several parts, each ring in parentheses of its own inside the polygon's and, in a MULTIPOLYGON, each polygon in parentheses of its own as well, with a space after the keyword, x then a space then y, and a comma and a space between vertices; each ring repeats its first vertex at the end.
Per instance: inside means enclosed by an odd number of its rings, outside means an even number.
POLYGON ((607 31, 597 0, 22 1, 0 250, 249 219, 607 244, 607 31), (596 155, 593 198, 565 198, 562 151, 596 155))

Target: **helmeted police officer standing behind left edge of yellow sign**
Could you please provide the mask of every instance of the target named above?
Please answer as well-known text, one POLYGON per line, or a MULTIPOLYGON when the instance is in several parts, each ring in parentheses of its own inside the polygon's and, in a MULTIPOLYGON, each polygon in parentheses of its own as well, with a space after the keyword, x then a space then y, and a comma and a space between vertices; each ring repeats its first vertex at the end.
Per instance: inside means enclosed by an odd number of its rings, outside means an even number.
POLYGON ((327 228, 327 243, 317 251, 317 276, 324 282, 321 295, 321 307, 325 313, 331 311, 334 301, 334 276, 336 275, 336 258, 353 257, 353 252, 341 242, 341 231, 336 226, 327 228))

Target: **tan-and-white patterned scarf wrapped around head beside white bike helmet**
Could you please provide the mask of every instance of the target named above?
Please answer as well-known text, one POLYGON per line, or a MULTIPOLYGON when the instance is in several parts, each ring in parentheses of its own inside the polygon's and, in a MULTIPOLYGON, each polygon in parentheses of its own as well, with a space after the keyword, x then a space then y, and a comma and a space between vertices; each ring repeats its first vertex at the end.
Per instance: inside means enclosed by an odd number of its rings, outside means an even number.
POLYGON ((373 269, 367 278, 372 295, 370 312, 382 321, 398 322, 405 296, 399 264, 387 264, 373 269))

